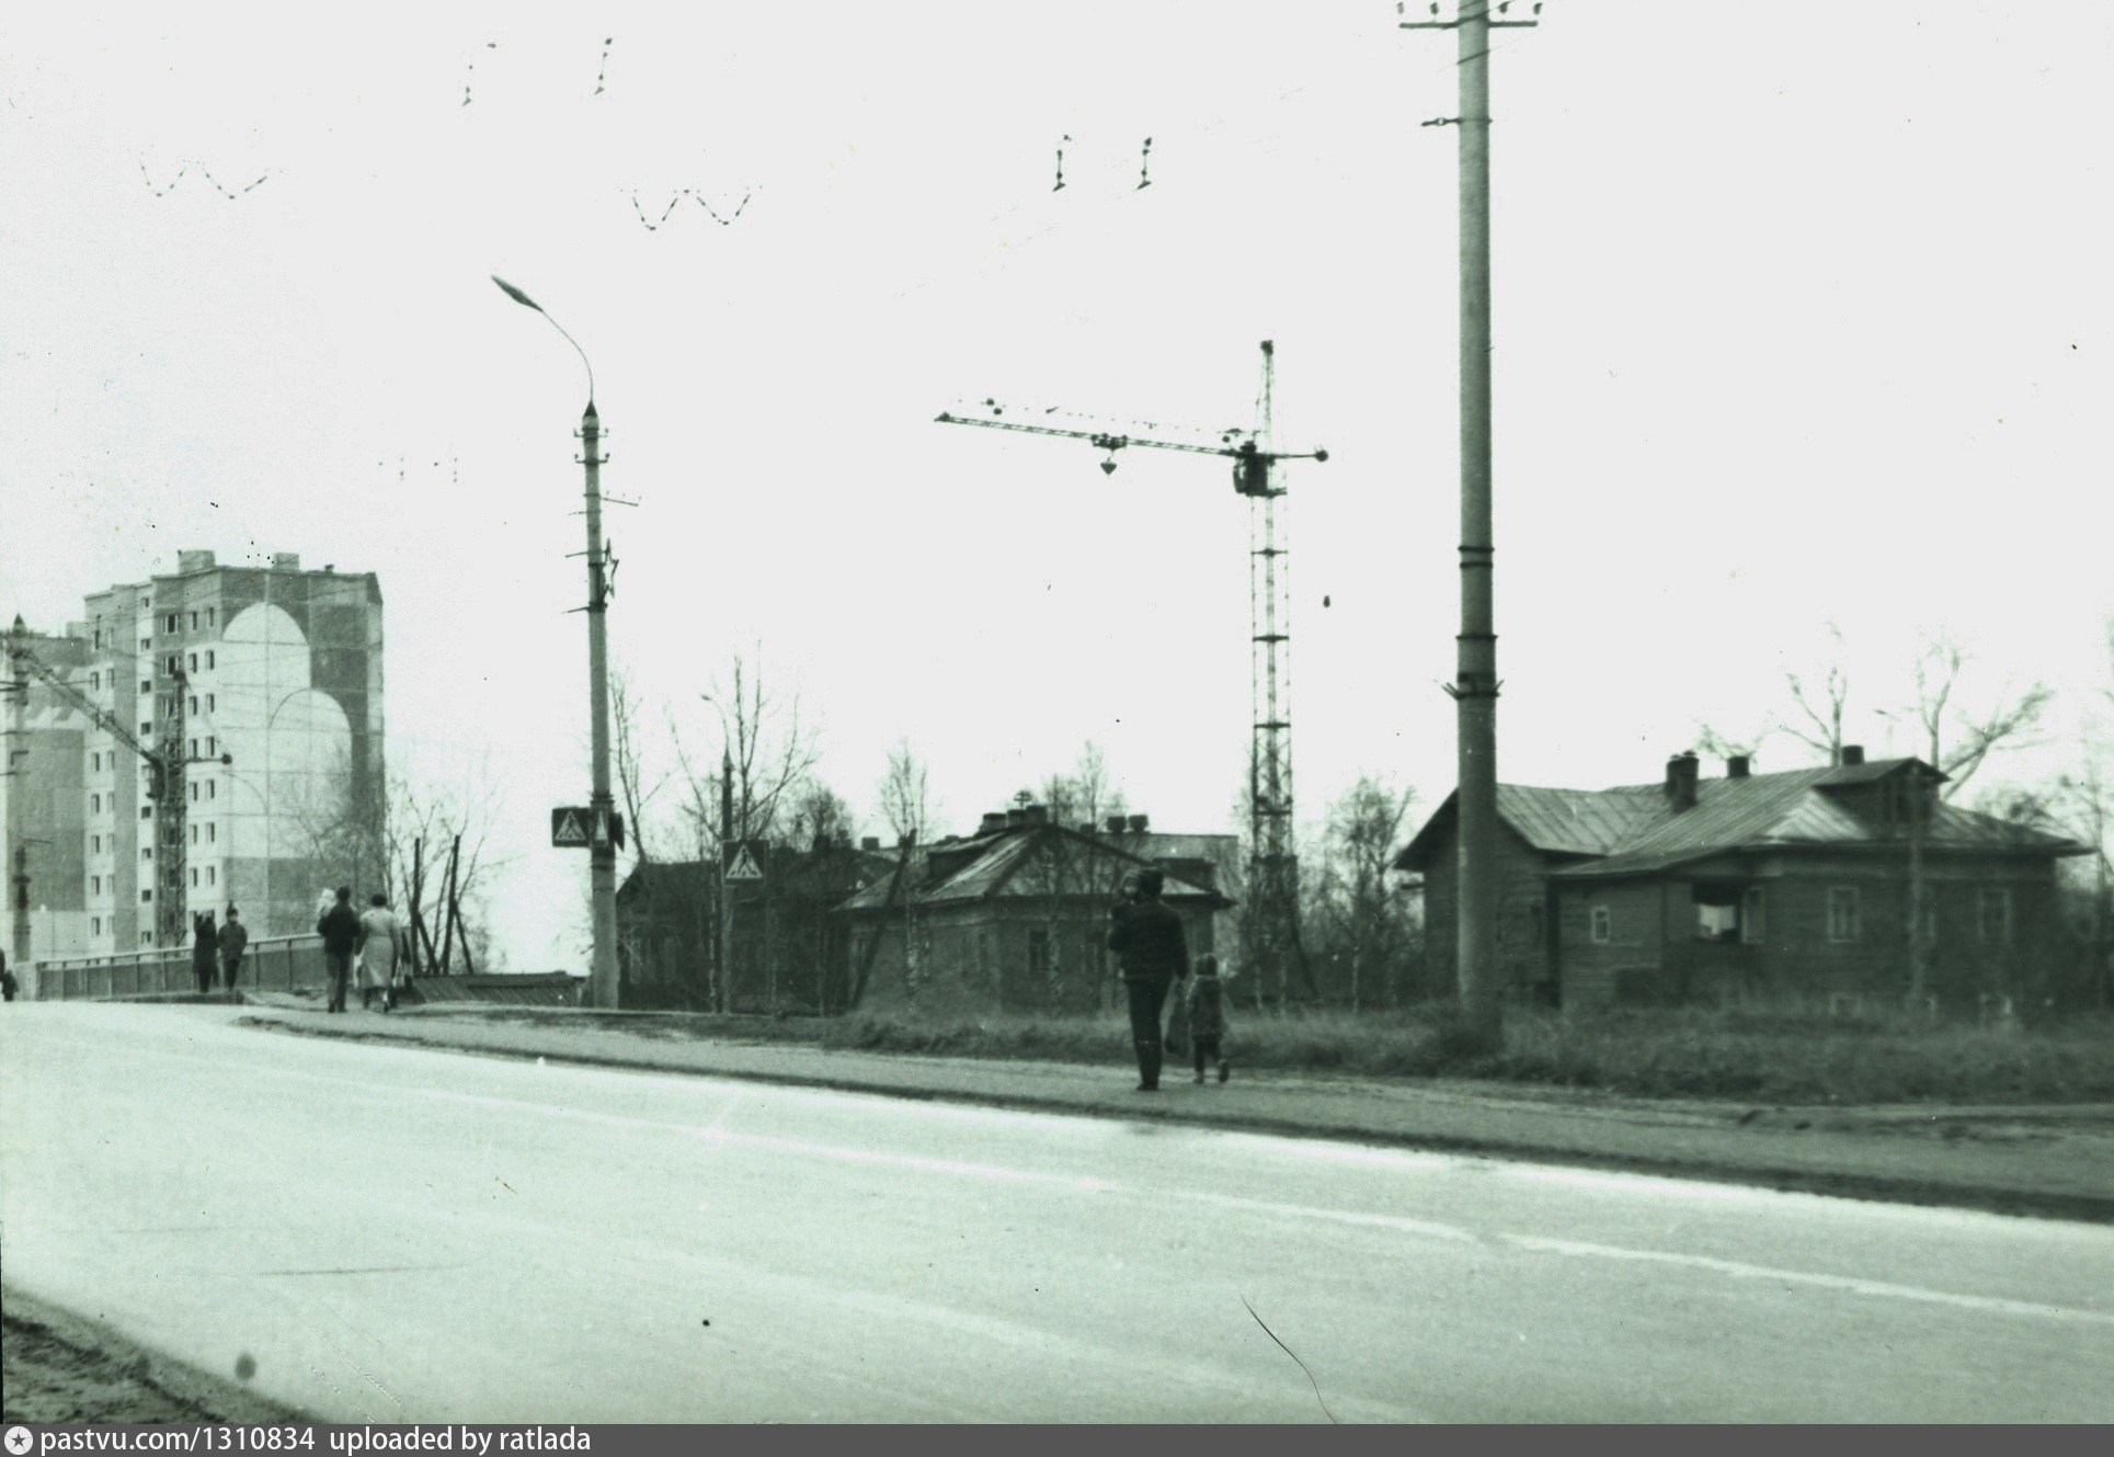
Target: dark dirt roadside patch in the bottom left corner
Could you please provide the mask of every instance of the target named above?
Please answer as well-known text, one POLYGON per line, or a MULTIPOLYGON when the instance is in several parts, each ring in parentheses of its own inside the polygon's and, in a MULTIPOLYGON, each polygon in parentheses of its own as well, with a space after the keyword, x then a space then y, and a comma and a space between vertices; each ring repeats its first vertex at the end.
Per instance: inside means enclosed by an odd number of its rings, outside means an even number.
POLYGON ((0 1294, 0 1421, 51 1427, 290 1419, 300 1417, 93 1322, 15 1290, 0 1294))

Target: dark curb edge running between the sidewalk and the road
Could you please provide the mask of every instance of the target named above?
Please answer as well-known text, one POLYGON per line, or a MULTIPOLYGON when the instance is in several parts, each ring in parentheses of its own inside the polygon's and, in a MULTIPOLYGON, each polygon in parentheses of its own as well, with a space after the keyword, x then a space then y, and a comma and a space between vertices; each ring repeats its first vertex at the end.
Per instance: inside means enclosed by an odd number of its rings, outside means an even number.
POLYGON ((1463 1138, 1457 1133, 1404 1133, 1364 1127, 1355 1123, 1317 1119, 1273 1119, 1254 1112, 1213 1112, 1180 1106, 1127 1106, 1106 1108, 1078 1104, 1063 1098, 1038 1098, 1034 1093, 970 1091, 941 1087, 905 1087, 858 1076, 829 1076, 818 1072, 757 1072, 729 1068, 685 1068, 653 1057, 626 1057, 615 1053, 581 1051, 516 1051, 503 1047, 480 1047, 478 1043, 457 1043, 438 1036, 406 1036, 383 1028, 304 1028, 281 1019, 249 1019, 247 1026, 283 1032, 290 1036, 319 1036, 342 1043, 389 1043, 395 1047, 419 1047, 435 1053, 471 1053, 503 1062, 556 1062, 581 1068, 615 1068, 624 1072, 662 1072, 670 1076, 725 1078, 731 1083, 763 1083, 769 1087, 812 1087, 833 1093, 863 1093, 869 1098, 901 1098, 909 1102, 966 1104, 977 1108, 1006 1108, 1017 1112, 1059 1112, 1080 1119, 1104 1119, 1118 1123, 1180 1123, 1188 1127, 1224 1129, 1237 1133, 1268 1133, 1275 1138, 1313 1138, 1332 1142, 1353 1142, 1380 1148, 1416 1148, 1427 1152, 1457 1152, 1492 1159, 1514 1159, 1526 1163, 1556 1163, 1564 1167, 1609 1169, 1619 1174, 1645 1174, 1655 1178, 1687 1178, 1717 1184, 1744 1184, 1769 1188, 1774 1193, 1824 1195, 1835 1199, 1867 1199, 1879 1203, 1911 1203, 1926 1207, 1979 1210, 1985 1214, 2008 1214, 2023 1218, 2057 1218, 2089 1224, 2114 1224, 2114 1197, 2038 1193, 2019 1188, 1989 1188, 1985 1184, 1958 1184, 1936 1180, 1903 1180, 1886 1176, 1858 1176, 1801 1169, 1786 1165, 1742 1163, 1736 1159, 1653 1159, 1649 1155, 1594 1152, 1571 1144, 1541 1144, 1533 1140, 1463 1138))

